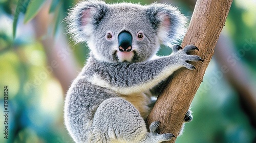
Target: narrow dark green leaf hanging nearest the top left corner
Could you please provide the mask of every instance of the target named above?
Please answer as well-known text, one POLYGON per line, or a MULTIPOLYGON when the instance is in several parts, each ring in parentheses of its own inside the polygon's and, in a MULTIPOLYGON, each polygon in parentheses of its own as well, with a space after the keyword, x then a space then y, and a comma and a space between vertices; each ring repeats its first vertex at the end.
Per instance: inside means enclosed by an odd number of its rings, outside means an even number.
POLYGON ((14 13, 14 20, 12 25, 12 34, 13 38, 16 36, 16 28, 17 28, 17 22, 18 22, 18 15, 20 12, 25 12, 30 0, 18 0, 17 7, 14 13))

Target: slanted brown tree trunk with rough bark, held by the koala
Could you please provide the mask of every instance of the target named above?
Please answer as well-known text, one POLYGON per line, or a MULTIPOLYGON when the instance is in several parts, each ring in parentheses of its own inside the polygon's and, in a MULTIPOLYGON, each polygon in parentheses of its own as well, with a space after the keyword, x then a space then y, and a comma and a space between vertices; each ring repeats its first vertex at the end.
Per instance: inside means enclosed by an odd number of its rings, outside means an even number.
MULTIPOLYGON (((160 121, 160 133, 169 132, 178 136, 185 113, 214 54, 215 45, 224 27, 231 3, 232 0, 197 1, 181 46, 196 45, 199 51, 191 54, 201 56, 204 62, 193 63, 196 70, 182 68, 175 72, 158 97, 153 110, 147 117, 147 123, 150 125, 154 121, 160 121)), ((174 138, 170 142, 175 140, 174 138)))

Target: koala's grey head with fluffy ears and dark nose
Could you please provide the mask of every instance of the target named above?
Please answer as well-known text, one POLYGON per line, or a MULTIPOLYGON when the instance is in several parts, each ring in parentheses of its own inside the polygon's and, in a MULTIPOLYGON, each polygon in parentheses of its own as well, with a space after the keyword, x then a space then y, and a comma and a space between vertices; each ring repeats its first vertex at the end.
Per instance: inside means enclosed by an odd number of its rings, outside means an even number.
POLYGON ((91 54, 106 62, 141 62, 152 58, 160 44, 172 45, 185 33, 186 18, 166 4, 77 4, 67 17, 68 32, 86 41, 91 54))

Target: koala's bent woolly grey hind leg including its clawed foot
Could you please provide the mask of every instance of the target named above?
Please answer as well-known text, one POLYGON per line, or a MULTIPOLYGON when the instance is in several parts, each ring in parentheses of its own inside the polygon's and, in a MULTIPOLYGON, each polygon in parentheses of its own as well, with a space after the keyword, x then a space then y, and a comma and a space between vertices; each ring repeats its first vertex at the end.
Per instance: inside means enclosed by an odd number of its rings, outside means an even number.
POLYGON ((91 142, 162 142, 172 134, 157 134, 158 122, 152 123, 148 133, 138 110, 121 98, 103 101, 95 112, 91 142))

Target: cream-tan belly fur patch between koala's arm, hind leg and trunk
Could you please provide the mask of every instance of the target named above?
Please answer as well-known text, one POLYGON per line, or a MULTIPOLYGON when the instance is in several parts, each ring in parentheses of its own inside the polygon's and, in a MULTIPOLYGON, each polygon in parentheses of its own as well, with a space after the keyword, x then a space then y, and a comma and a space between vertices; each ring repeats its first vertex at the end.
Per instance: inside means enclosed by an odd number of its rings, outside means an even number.
POLYGON ((148 105, 151 103, 150 96, 147 96, 145 93, 136 93, 130 95, 121 95, 122 99, 130 102, 133 106, 140 112, 140 115, 145 119, 150 113, 150 108, 148 105))

